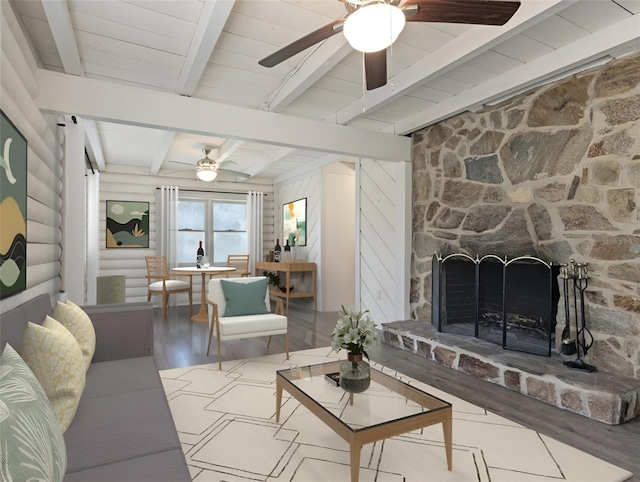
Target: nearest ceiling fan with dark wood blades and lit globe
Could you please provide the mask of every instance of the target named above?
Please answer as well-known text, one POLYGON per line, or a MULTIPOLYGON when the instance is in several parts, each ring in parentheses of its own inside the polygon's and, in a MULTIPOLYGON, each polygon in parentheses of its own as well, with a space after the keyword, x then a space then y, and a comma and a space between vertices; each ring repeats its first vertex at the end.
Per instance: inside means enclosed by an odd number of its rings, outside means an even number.
POLYGON ((367 90, 387 83, 387 52, 406 22, 446 22, 504 25, 520 7, 519 1, 502 0, 338 0, 344 17, 314 30, 260 60, 274 67, 340 31, 351 46, 364 53, 367 90))

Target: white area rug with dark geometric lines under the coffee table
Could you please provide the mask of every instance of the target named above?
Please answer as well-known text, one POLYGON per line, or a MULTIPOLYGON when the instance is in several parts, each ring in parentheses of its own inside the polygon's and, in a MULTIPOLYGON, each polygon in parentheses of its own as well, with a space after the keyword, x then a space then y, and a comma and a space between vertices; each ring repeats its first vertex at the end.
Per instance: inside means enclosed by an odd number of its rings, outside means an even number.
MULTIPOLYGON (((317 348, 160 372, 183 451, 197 482, 350 480, 349 446, 283 391, 276 370, 344 358, 317 348)), ((362 482, 613 482, 632 473, 379 364, 453 405, 453 470, 442 426, 362 447, 362 482)), ((336 388, 336 390, 340 390, 336 388)), ((339 397, 346 404, 348 397, 339 397)))

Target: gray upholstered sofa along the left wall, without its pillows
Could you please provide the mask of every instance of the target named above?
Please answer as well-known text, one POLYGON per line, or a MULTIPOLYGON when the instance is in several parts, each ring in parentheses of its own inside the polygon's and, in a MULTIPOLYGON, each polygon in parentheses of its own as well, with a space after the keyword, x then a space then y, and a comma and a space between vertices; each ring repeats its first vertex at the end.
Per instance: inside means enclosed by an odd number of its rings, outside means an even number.
MULTIPOLYGON (((94 325, 96 351, 64 433, 65 482, 191 480, 153 360, 151 304, 82 308, 94 325)), ((19 352, 27 321, 52 314, 49 295, 2 313, 0 350, 10 343, 19 352)))

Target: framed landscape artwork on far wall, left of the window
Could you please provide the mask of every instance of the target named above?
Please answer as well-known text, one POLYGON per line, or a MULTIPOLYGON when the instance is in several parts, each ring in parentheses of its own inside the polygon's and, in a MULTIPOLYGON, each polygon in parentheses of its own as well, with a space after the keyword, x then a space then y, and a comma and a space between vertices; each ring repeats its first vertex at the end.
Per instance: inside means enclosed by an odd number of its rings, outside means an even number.
POLYGON ((107 248, 149 247, 149 203, 107 201, 107 248))

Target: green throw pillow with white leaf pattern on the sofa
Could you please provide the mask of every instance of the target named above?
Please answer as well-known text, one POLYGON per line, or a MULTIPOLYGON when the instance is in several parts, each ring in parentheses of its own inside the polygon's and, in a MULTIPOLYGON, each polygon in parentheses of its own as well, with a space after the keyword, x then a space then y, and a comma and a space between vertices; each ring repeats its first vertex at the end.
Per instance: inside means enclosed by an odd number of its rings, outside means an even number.
POLYGON ((63 480, 67 449, 58 418, 8 343, 0 357, 0 432, 0 480, 63 480))

